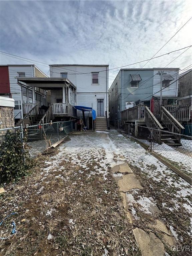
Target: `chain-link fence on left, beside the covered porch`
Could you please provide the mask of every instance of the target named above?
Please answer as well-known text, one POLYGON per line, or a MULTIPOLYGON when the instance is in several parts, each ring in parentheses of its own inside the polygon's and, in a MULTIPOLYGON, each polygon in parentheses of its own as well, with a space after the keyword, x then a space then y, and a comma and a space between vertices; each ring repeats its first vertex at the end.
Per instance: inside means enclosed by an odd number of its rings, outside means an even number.
POLYGON ((1 129, 0 157, 4 154, 5 149, 8 150, 6 152, 9 152, 20 144, 22 145, 20 153, 22 154, 22 150, 27 147, 30 157, 34 158, 38 154, 46 152, 54 143, 72 131, 72 121, 1 129))

